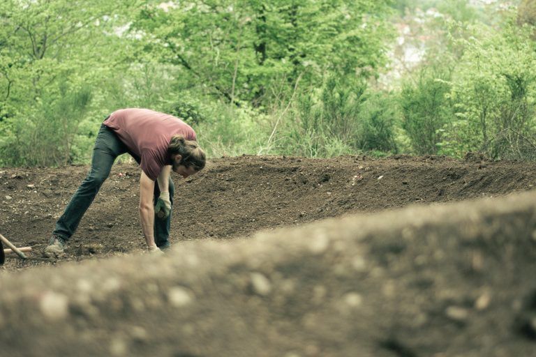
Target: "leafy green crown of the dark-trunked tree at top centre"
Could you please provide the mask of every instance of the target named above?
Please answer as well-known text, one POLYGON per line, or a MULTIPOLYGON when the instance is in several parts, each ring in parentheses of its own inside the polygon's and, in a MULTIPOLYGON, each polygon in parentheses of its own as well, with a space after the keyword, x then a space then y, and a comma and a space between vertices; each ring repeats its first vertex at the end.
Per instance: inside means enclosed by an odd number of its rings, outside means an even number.
POLYGON ((281 78, 309 86, 326 72, 371 75, 386 62, 388 13, 385 0, 153 3, 133 29, 143 50, 183 68, 189 85, 258 107, 281 78))

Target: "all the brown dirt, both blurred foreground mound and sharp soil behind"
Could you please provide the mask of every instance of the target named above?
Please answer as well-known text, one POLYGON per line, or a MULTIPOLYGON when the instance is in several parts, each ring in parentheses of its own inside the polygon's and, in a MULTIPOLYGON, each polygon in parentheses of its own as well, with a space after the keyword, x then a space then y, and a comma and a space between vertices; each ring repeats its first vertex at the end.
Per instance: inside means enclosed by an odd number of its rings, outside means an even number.
MULTIPOLYGON (((0 233, 43 244, 86 169, 1 170, 0 233)), ((0 356, 536 356, 535 193, 495 198, 535 169, 222 158, 177 184, 176 249, 156 259, 118 165, 68 259, 0 269, 0 356), (281 225, 304 227, 250 237, 281 225)))

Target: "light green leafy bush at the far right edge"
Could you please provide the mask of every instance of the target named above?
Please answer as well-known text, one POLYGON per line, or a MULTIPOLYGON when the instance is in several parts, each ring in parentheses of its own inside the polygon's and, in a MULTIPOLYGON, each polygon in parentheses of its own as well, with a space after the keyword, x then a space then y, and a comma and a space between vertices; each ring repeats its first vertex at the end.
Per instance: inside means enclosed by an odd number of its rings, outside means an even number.
POLYGON ((478 37, 464 41, 450 93, 456 119, 445 126, 442 151, 461 156, 485 150, 502 158, 536 134, 535 43, 532 29, 513 23, 500 33, 485 26, 475 32, 478 37))

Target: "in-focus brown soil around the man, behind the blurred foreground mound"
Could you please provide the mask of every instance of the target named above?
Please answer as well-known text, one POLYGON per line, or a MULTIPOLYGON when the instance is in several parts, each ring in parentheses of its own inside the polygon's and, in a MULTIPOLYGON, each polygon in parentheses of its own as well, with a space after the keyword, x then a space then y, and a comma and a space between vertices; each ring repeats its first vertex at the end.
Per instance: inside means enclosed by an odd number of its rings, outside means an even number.
MULTIPOLYGON (((86 166, 0 169, 0 234, 17 246, 32 246, 30 256, 39 256, 87 170, 86 166)), ((535 164, 472 156, 462 161, 403 155, 218 158, 186 180, 174 175, 170 241, 244 238, 260 229, 345 213, 495 197, 530 190, 536 185, 534 172, 535 164)), ((139 177, 135 163, 114 165, 60 263, 144 247, 137 211, 139 177)), ((0 273, 40 264, 48 263, 8 258, 0 273)))

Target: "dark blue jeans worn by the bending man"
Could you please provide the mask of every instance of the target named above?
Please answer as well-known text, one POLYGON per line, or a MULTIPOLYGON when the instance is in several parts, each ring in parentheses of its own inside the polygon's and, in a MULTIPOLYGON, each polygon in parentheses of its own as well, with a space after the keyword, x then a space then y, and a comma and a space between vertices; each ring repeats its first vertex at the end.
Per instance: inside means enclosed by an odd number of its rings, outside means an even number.
MULTIPOLYGON (((110 175, 110 170, 117 156, 123 153, 130 153, 125 144, 119 140, 115 133, 107 128, 104 124, 101 125, 101 130, 98 131, 95 147, 93 149, 93 158, 91 159, 91 170, 87 177, 82 181, 82 184, 76 190, 75 195, 70 199, 65 212, 56 222, 56 228, 52 232, 55 236, 68 240, 72 236, 86 213, 87 208, 93 202, 98 190, 103 182, 110 175)), ((133 158, 140 163, 140 158, 131 153, 133 158)), ((170 177, 170 201, 173 207, 173 194, 175 187, 170 177)), ((154 184, 154 204, 160 196, 160 188, 158 183, 154 184)), ((166 220, 159 218, 154 219, 154 241, 160 248, 167 248, 170 245, 170 224, 171 214, 166 220)))

